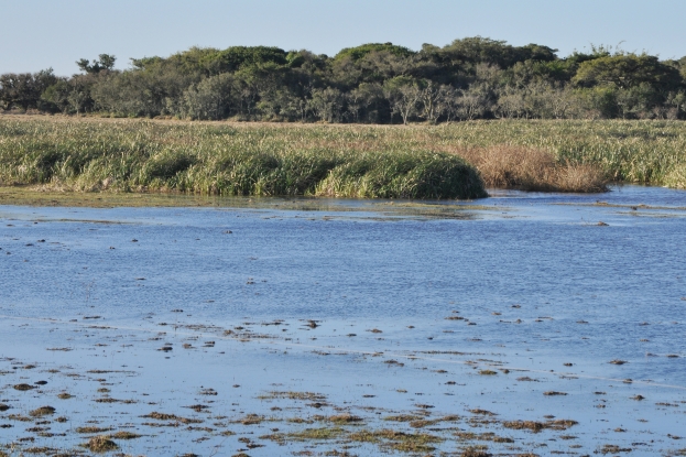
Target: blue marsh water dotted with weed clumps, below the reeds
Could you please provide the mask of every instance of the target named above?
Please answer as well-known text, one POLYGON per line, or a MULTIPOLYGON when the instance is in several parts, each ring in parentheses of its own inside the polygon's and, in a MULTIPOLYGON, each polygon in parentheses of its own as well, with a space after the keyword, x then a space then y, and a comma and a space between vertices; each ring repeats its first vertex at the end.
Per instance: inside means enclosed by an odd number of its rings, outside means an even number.
POLYGON ((2 206, 0 445, 87 451, 91 426, 142 435, 112 438, 133 455, 412 454, 297 435, 346 413, 435 437, 423 455, 675 454, 685 235, 686 192, 640 186, 2 206), (505 424, 555 420, 576 424, 505 424))

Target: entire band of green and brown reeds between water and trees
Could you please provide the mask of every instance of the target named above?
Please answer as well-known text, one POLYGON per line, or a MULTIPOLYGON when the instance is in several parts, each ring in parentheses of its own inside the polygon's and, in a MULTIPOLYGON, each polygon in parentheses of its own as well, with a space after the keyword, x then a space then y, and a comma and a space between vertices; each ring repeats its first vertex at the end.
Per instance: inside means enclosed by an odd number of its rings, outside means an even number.
POLYGON ((484 186, 601 192, 686 186, 672 121, 442 126, 0 118, 0 185, 43 191, 479 198, 484 186))

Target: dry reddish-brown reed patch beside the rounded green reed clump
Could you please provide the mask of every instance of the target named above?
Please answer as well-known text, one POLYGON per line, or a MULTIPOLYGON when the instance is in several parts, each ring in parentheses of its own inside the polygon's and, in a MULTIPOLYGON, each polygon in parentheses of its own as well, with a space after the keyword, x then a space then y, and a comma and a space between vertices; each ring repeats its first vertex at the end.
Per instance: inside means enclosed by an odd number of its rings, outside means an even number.
POLYGON ((608 189, 600 167, 558 160, 543 149, 499 144, 454 152, 479 170, 487 187, 575 193, 608 189))

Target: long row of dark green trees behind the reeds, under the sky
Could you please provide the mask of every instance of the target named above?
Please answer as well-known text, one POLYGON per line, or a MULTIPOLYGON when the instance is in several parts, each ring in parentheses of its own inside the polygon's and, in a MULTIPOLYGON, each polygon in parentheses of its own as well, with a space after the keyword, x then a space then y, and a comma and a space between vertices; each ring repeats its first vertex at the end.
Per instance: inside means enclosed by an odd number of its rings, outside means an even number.
POLYGON ((2 110, 355 123, 472 119, 686 119, 686 57, 591 46, 513 46, 487 37, 412 51, 370 43, 329 57, 269 46, 100 54, 80 73, 0 75, 2 110))

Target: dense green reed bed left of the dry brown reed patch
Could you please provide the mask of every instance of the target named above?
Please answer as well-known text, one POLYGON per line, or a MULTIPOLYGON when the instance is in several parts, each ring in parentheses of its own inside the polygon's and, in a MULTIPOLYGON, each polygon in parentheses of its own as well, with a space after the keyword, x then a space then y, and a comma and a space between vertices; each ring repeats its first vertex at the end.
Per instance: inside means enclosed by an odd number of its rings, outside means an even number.
POLYGON ((210 195, 487 196, 462 159, 385 133, 391 135, 379 128, 7 117, 0 118, 0 182, 210 195))

